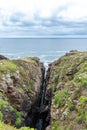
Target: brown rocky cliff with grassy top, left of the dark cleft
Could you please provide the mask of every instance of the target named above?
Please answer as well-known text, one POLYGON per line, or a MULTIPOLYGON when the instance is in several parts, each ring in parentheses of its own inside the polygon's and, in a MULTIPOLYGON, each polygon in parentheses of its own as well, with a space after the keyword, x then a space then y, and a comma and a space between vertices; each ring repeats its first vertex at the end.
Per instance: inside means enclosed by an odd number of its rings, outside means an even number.
MULTIPOLYGON (((0 120, 20 127, 38 100, 44 67, 38 58, 0 56, 0 120)), ((34 106, 35 108, 36 106, 34 106)))

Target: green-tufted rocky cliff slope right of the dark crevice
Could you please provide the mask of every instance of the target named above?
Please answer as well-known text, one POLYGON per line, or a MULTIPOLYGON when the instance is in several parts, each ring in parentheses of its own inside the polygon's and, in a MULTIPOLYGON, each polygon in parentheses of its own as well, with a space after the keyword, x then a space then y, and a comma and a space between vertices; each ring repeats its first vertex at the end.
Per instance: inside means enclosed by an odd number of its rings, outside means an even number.
POLYGON ((50 64, 51 125, 47 130, 87 129, 87 52, 71 51, 50 64))

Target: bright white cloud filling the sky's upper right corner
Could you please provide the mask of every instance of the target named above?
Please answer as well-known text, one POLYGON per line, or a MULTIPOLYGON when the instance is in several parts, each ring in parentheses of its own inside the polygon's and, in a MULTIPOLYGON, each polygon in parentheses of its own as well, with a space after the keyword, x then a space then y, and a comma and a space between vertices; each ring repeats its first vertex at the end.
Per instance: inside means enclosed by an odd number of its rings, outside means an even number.
POLYGON ((71 21, 83 21, 87 17, 87 1, 73 0, 66 11, 61 11, 60 16, 71 21))

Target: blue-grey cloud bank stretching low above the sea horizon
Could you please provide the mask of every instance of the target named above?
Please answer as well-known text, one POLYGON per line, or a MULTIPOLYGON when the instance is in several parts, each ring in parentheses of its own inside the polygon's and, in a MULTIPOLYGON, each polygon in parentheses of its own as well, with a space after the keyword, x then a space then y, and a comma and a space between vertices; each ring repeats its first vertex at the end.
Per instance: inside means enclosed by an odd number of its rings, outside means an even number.
MULTIPOLYGON (((55 15, 43 18, 39 13, 34 15, 34 20, 26 20, 25 14, 16 12, 8 21, 3 22, 2 33, 18 35, 87 35, 87 21, 66 21, 55 15), (11 24, 8 24, 11 23, 11 24), (17 32, 17 33, 16 33, 17 32)), ((1 31, 0 31, 1 32, 1 31)))

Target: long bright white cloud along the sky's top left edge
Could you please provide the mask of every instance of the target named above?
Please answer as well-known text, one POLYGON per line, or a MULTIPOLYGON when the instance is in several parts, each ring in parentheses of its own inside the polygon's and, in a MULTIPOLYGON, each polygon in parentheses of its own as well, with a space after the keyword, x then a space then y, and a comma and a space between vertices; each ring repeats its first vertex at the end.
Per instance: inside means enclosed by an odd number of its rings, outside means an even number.
POLYGON ((41 17, 50 17, 60 6, 67 4, 69 0, 0 0, 0 8, 4 15, 21 12, 29 16, 40 13, 41 17))

